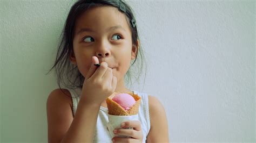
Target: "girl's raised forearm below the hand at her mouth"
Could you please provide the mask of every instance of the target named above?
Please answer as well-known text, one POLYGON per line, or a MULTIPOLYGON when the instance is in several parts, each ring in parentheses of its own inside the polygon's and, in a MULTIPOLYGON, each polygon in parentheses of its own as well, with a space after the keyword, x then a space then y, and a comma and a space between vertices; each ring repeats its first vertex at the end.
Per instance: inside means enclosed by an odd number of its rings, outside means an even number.
POLYGON ((81 99, 76 116, 61 142, 92 142, 100 105, 86 104, 81 99))

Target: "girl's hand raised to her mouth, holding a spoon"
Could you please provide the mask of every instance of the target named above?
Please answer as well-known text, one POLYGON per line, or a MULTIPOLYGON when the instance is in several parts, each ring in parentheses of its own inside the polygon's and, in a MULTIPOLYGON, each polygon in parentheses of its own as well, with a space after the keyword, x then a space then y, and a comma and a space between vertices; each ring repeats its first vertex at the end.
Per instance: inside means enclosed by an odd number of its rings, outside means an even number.
POLYGON ((98 58, 93 56, 85 76, 80 100, 86 104, 100 105, 116 89, 117 77, 113 76, 112 69, 106 62, 100 63, 100 67, 95 66, 98 63, 98 58))

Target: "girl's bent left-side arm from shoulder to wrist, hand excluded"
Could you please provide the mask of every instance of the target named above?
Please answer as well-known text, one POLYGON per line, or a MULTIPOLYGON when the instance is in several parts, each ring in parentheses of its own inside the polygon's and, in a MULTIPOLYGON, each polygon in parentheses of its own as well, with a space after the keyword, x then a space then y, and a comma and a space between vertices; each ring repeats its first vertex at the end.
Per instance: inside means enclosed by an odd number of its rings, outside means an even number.
MULTIPOLYGON (((69 95, 70 93, 67 92, 69 95)), ((47 101, 48 142, 92 142, 100 105, 78 104, 72 116, 72 100, 60 89, 53 90, 47 101)))

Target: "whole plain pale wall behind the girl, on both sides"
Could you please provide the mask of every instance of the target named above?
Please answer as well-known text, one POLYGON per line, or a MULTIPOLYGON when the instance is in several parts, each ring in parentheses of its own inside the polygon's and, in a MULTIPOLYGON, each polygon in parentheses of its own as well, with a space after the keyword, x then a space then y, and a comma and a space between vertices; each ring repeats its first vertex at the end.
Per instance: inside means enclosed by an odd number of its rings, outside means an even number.
MULTIPOLYGON (((52 66, 74 1, 0 1, 1 142, 47 142, 52 66)), ((255 142, 255 1, 131 1, 171 142, 255 142)))

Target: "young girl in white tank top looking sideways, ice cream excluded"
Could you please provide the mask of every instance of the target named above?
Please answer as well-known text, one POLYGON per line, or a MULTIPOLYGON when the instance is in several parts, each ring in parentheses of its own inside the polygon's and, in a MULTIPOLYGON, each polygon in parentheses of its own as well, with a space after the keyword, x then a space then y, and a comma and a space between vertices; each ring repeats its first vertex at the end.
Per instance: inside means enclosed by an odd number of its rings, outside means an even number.
POLYGON ((139 53, 136 20, 123 1, 78 1, 66 19, 55 65, 58 83, 47 101, 49 142, 169 142, 163 105, 125 87, 125 74, 139 53), (100 66, 97 66, 99 64, 100 66), (64 68, 66 73, 64 74, 64 68), (71 76, 64 82, 64 77, 71 76), (65 84, 65 85, 68 85, 65 84), (114 91, 141 97, 139 120, 129 120, 111 138, 105 99, 114 91))

